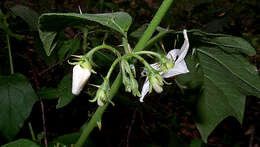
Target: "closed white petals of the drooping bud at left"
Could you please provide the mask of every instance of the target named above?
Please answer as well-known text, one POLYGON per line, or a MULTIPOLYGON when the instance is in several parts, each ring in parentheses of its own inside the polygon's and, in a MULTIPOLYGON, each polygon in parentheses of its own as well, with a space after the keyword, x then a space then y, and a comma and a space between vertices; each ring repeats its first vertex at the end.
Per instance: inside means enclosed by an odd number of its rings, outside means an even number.
POLYGON ((88 68, 82 68, 79 64, 73 67, 72 94, 79 95, 90 75, 91 71, 88 68))

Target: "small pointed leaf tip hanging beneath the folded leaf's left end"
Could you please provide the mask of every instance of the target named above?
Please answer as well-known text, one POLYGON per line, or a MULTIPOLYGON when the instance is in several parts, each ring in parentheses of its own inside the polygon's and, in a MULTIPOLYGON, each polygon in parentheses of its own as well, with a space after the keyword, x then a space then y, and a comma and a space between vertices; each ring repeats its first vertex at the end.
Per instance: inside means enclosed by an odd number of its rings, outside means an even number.
POLYGON ((43 31, 39 30, 39 36, 41 38, 43 48, 44 48, 47 56, 51 55, 51 52, 57 45, 57 43, 54 42, 56 35, 57 35, 56 32, 47 32, 47 31, 43 32, 43 31))

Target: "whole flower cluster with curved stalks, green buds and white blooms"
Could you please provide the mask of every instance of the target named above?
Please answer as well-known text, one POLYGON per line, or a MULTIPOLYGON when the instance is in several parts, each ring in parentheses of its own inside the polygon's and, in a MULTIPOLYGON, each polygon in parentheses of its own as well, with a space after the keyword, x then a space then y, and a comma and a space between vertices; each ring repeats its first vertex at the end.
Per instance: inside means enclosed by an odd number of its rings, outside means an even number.
POLYGON ((92 55, 96 50, 101 49, 102 47, 110 49, 113 52, 116 52, 118 55, 118 59, 115 60, 114 63, 112 64, 107 76, 104 78, 104 82, 100 86, 98 86, 99 89, 97 90, 96 96, 93 100, 90 100, 91 102, 97 101, 99 106, 103 106, 106 102, 109 101, 109 96, 110 96, 109 77, 112 73, 112 70, 114 69, 115 65, 118 62, 120 63, 120 69, 123 78, 122 82, 125 85, 125 91, 132 92, 134 96, 140 97, 141 102, 143 102, 144 97, 148 93, 151 93, 152 90, 155 90, 155 92, 157 93, 161 93, 163 91, 163 85, 166 83, 164 78, 170 78, 179 74, 184 74, 189 72, 184 60, 189 49, 189 40, 188 40, 188 35, 186 30, 183 31, 183 35, 184 35, 184 43, 181 49, 170 50, 166 56, 160 55, 155 52, 142 51, 142 52, 128 53, 121 57, 121 55, 117 53, 115 49, 107 45, 96 47, 95 50, 93 49, 92 51, 90 51, 88 54, 84 56, 75 56, 77 57, 76 58, 77 62, 70 63, 72 65, 75 65, 73 67, 72 93, 74 95, 78 95, 82 91, 87 80, 89 79, 91 72, 95 73, 92 70, 92 66, 91 66, 93 64, 92 55), (145 54, 145 53, 149 53, 151 55, 158 57, 160 61, 154 64, 147 63, 140 56, 140 54, 145 54), (145 65, 145 69, 142 73, 143 75, 146 76, 146 79, 142 87, 141 93, 138 90, 138 82, 135 79, 135 75, 136 75, 135 67, 133 64, 129 64, 129 60, 132 60, 132 58, 137 58, 145 65))

